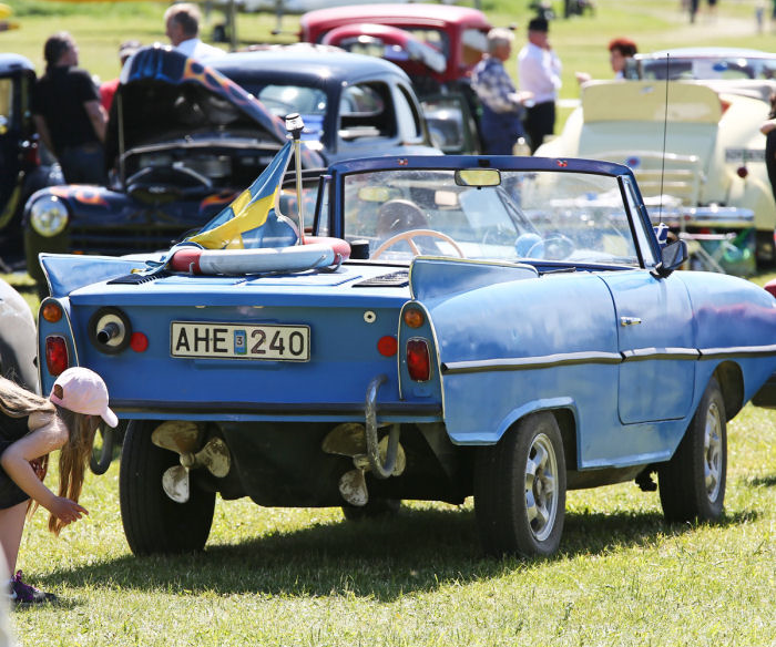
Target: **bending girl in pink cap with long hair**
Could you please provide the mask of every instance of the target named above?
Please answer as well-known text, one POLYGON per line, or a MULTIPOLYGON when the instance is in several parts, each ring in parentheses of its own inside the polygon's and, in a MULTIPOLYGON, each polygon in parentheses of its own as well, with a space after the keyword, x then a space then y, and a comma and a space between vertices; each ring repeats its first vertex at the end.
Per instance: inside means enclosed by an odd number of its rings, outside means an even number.
MULTIPOLYGON (((108 407, 108 388, 94 371, 65 370, 49 398, 41 398, 0 378, 0 547, 13 573, 25 516, 38 505, 51 514, 49 530, 59 535, 89 512, 78 504, 83 476, 101 421, 119 423, 108 407), (60 451, 59 496, 43 484, 49 453, 60 451)), ((21 579, 8 584, 14 604, 53 600, 21 579)))

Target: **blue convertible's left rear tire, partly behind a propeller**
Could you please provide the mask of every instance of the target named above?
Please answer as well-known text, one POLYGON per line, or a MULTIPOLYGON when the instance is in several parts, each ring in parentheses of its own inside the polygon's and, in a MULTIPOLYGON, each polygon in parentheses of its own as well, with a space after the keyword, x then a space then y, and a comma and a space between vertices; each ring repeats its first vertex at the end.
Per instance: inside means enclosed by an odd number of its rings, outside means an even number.
POLYGON ((151 442, 157 424, 133 420, 126 428, 119 476, 126 541, 135 555, 202 551, 213 523, 215 493, 193 483, 186 503, 176 503, 164 493, 162 474, 178 464, 178 456, 151 442))

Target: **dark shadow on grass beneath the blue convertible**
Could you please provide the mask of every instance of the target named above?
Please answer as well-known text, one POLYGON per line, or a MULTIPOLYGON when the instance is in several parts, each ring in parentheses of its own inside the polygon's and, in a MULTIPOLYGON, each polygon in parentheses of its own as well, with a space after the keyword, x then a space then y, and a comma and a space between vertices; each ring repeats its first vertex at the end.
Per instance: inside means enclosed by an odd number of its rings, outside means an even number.
MULTIPOLYGON (((735 525, 752 516, 732 515, 721 523, 735 525)), ((651 546, 692 528, 667 525, 657 513, 569 514, 559 555, 524 562, 483 557, 471 511, 402 510, 390 520, 320 524, 236 545, 207 546, 201 554, 127 555, 51 573, 41 584, 182 595, 347 595, 390 602, 452 583, 513 573, 530 576, 555 561, 651 546)))

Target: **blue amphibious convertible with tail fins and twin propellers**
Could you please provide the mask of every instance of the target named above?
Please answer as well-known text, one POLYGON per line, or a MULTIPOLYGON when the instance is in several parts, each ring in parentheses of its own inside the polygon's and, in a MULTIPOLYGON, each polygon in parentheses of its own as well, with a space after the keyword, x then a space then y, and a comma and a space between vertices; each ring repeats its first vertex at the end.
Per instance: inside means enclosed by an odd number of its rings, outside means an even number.
POLYGON ((723 513, 726 422, 776 368, 776 299, 677 270, 685 244, 658 243, 627 167, 341 162, 314 234, 177 265, 42 256, 43 391, 88 366, 130 421, 133 552, 202 548, 216 493, 348 518, 473 495, 483 548, 524 556, 558 550, 568 489, 635 480, 668 521, 723 513))

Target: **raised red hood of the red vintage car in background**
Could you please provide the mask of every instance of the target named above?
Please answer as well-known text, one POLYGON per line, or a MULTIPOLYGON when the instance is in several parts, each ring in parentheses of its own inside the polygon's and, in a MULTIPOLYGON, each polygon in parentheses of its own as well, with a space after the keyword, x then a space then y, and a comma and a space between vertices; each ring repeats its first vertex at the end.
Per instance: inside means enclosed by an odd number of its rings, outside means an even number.
POLYGON ((398 65, 405 61, 417 61, 439 74, 447 69, 441 52, 398 27, 369 22, 344 24, 329 31, 323 43, 361 54, 379 55, 398 65))

